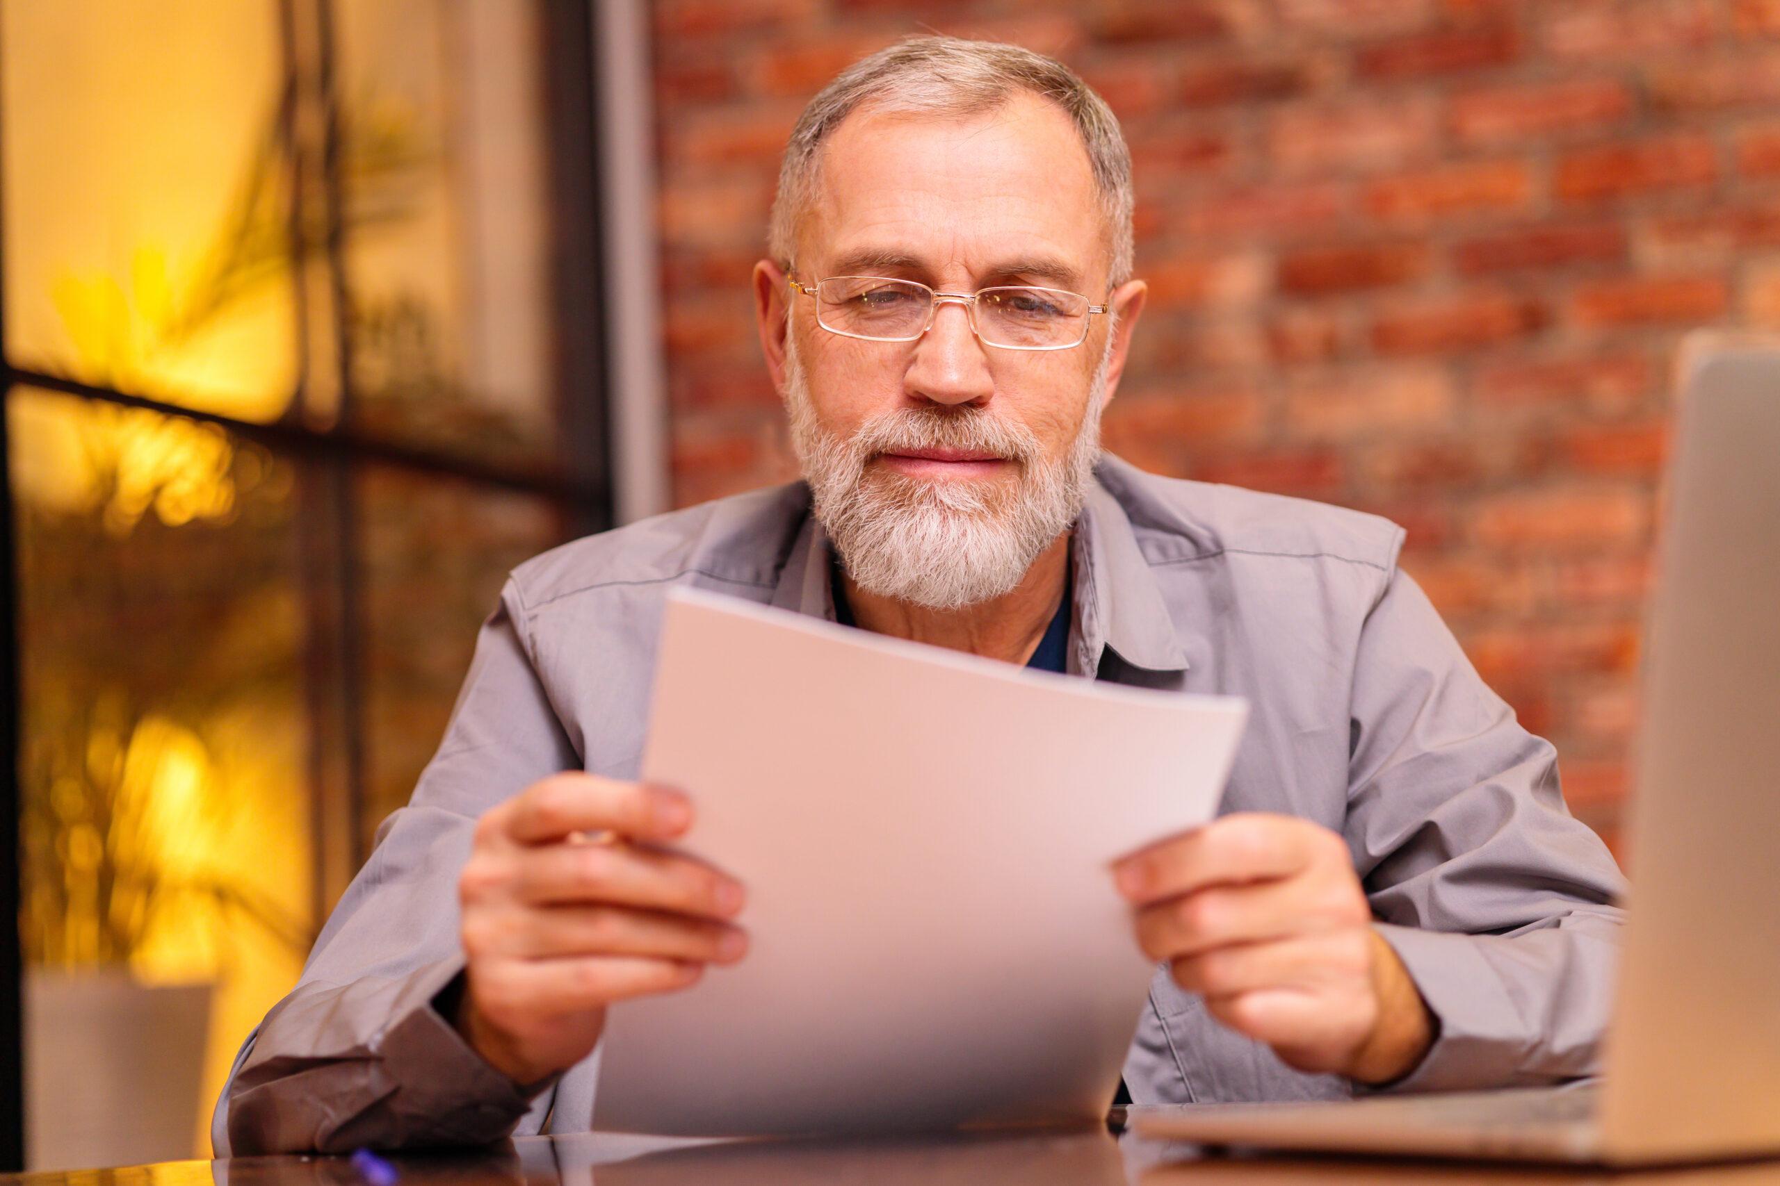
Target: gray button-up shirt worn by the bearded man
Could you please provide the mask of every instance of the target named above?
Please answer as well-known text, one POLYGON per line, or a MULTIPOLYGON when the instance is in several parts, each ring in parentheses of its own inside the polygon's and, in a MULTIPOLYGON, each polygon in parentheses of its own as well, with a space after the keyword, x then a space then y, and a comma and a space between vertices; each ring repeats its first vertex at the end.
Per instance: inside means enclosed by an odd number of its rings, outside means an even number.
MULTIPOLYGON (((1223 811, 1340 832, 1438 1022, 1433 1049, 1392 1090, 1593 1074, 1620 871, 1565 809, 1552 747, 1515 722, 1397 569, 1401 544, 1401 528, 1367 514, 1107 457, 1072 535, 1070 672, 1250 699, 1223 811)), ((463 969, 456 882, 472 827, 557 770, 637 775, 668 587, 831 619, 829 574, 803 484, 520 565, 413 800, 383 823, 301 982, 242 1047, 217 1102, 217 1154, 587 1129, 598 1053, 527 1094, 434 1008, 463 969)), ((1136 1102, 1358 1090, 1221 1028, 1166 966, 1125 1081, 1136 1102)))

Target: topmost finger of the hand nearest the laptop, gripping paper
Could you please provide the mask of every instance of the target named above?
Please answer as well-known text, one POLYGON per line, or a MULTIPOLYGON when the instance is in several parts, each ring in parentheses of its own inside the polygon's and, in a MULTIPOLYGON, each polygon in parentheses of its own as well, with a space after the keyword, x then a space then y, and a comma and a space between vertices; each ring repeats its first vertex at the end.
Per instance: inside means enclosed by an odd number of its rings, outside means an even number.
POLYGON ((1319 857, 1351 864, 1346 843, 1328 829, 1292 816, 1244 813, 1212 820, 1185 836, 1145 848, 1112 866, 1120 893, 1137 903, 1290 877, 1319 857))

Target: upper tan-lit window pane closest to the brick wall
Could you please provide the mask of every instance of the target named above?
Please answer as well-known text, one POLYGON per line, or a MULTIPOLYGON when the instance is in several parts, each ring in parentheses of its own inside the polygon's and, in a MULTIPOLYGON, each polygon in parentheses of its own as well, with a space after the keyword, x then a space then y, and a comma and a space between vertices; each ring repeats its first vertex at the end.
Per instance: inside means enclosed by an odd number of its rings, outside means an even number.
POLYGON ((554 448, 539 5, 336 5, 354 418, 488 462, 554 448))

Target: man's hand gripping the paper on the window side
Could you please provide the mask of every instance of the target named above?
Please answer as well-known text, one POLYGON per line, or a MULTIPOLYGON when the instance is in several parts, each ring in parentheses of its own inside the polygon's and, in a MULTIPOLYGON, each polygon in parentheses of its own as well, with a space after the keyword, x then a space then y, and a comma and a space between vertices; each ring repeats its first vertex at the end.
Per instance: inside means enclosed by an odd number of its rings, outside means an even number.
POLYGON ((484 814, 457 880, 466 987, 452 1019, 514 1083, 586 1058, 605 1006, 673 992, 748 950, 730 877, 651 846, 682 836, 676 791, 559 773, 484 814))

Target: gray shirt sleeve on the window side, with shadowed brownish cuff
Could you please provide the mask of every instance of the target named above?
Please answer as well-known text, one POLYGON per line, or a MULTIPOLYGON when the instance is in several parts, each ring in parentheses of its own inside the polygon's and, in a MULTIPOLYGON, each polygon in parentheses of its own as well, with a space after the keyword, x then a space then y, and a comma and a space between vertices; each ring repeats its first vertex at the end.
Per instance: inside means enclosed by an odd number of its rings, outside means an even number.
POLYGON ((522 622, 509 581, 411 802, 379 829, 295 989, 235 1058, 212 1120, 219 1158, 479 1145, 543 1122, 552 1085, 522 1090, 434 1006, 463 969, 457 873, 475 820, 580 768, 522 622))

